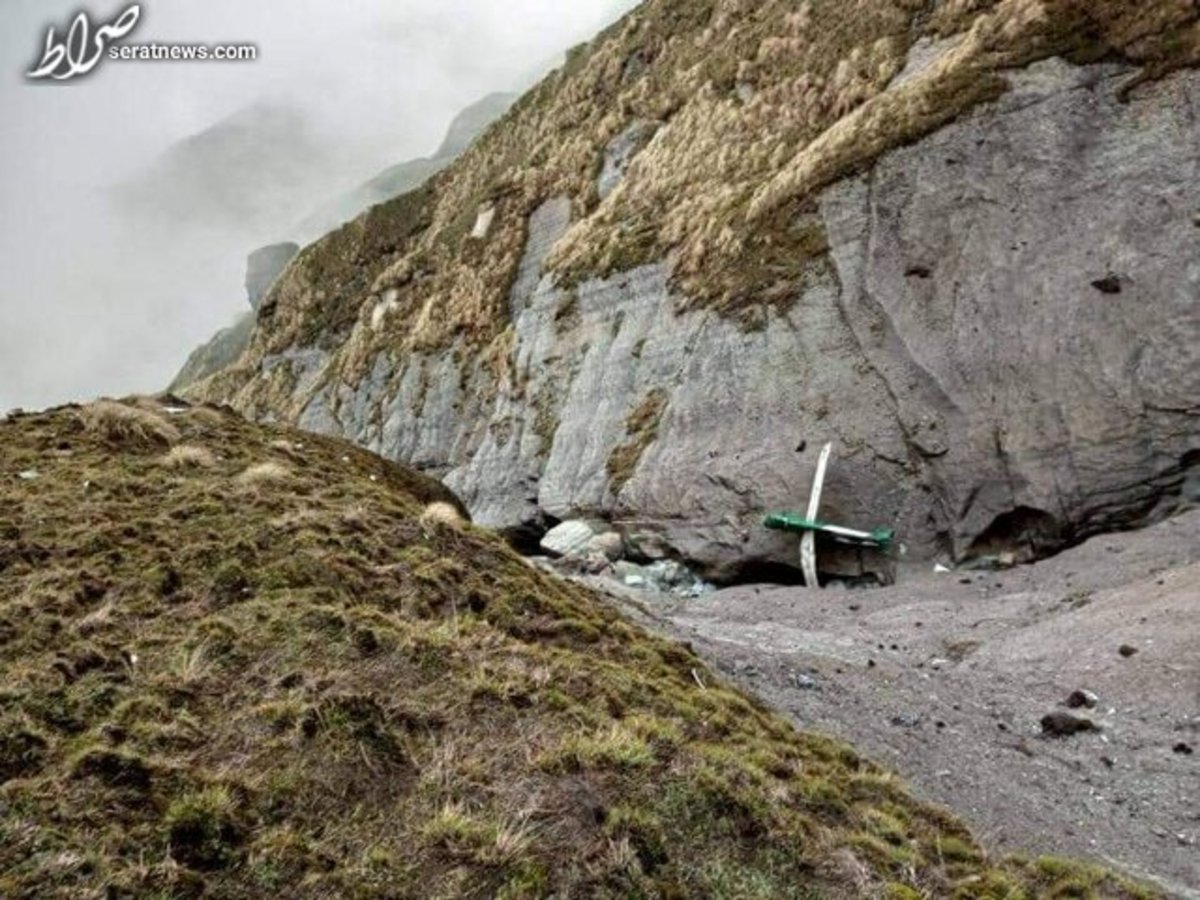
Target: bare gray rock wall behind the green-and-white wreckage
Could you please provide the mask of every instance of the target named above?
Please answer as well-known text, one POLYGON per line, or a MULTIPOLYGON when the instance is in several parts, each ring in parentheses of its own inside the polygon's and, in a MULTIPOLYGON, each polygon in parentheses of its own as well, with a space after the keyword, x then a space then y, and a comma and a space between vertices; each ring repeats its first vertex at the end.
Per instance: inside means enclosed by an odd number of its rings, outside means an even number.
POLYGON ((1200 461, 1200 74, 1123 102, 1128 77, 1038 64, 824 191, 830 253, 755 331, 677 312, 666 263, 556 287, 548 200, 508 374, 462 348, 306 372, 302 422, 443 475, 482 524, 601 516, 718 578, 794 562, 761 517, 803 509, 826 440, 823 517, 914 557, 1147 521, 1200 461))

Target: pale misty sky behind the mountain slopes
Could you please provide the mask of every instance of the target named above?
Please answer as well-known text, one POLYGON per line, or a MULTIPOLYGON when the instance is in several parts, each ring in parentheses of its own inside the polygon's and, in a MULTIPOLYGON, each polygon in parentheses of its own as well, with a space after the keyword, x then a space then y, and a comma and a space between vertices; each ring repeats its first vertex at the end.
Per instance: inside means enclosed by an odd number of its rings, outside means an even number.
MULTIPOLYGON (((251 42, 259 59, 106 61, 46 85, 24 73, 79 0, 0 0, 0 412, 161 389, 248 308, 245 256, 288 238, 296 210, 430 155, 460 109, 529 86, 634 5, 143 0, 128 42, 251 42), (114 186, 256 103, 298 110, 322 149, 304 186, 271 204, 277 222, 164 226, 114 204, 114 186)), ((127 6, 84 4, 96 23, 127 6)))

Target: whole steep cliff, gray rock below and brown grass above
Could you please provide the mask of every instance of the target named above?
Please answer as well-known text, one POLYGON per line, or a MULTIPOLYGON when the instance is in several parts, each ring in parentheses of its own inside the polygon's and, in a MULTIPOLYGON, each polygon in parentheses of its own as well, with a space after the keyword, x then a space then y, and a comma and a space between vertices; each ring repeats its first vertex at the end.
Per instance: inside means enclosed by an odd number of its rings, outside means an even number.
POLYGON ((839 10, 644 5, 301 254, 197 392, 716 578, 794 559, 760 521, 827 440, 823 517, 917 558, 1169 511, 1200 463, 1196 11, 839 10))

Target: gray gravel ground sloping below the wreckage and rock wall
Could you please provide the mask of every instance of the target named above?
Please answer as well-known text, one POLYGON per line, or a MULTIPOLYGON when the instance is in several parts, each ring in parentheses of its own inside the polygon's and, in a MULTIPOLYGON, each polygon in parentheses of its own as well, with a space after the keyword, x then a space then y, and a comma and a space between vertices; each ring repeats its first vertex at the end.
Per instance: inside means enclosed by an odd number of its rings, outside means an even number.
POLYGON ((1200 511, 1006 571, 671 600, 587 580, 996 851, 1090 857, 1200 898, 1200 511), (1096 703, 1070 709, 1069 696, 1096 703), (1052 738, 1049 714, 1098 731, 1052 738))

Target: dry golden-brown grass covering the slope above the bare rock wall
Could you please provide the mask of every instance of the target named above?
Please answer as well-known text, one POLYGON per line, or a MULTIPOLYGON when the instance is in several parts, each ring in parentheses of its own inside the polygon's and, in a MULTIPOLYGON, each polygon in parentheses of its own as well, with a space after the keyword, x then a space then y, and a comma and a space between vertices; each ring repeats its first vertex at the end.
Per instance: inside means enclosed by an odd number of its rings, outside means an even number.
POLYGON ((1124 59, 1140 78, 1194 65, 1198 17, 1188 0, 647 0, 569 54, 419 203, 383 204, 310 247, 241 367, 198 395, 248 384, 240 404, 260 395, 286 412, 287 388, 254 382, 257 364, 302 343, 344 340, 331 372, 350 383, 384 348, 486 347, 509 324, 528 216, 556 196, 576 218, 548 262, 560 283, 670 259, 684 306, 754 324, 823 264, 822 186, 1002 95, 1006 73, 1038 59, 1124 59), (918 40, 949 36, 953 50, 896 83, 918 40), (638 120, 664 127, 601 202, 605 146, 638 120), (470 238, 488 204, 491 232, 470 238), (379 328, 389 290, 400 300, 379 328))

